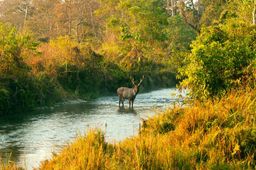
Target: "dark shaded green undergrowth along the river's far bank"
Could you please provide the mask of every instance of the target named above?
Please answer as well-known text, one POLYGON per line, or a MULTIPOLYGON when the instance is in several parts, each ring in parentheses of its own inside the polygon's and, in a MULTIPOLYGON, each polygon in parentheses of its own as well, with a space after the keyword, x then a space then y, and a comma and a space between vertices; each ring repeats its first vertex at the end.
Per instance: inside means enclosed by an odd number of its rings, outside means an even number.
MULTIPOLYGON (((88 81, 83 81, 82 83, 74 81, 73 83, 76 86, 80 86, 80 90, 63 87, 63 85, 59 81, 49 81, 49 78, 47 77, 43 80, 29 78, 26 81, 18 80, 18 82, 14 82, 12 79, 6 79, 3 82, 12 85, 7 85, 4 87, 8 90, 2 89, 2 91, 0 91, 0 100, 2 101, 2 103, 0 104, 0 115, 15 114, 18 112, 28 112, 34 110, 37 107, 49 107, 53 106, 56 103, 69 100, 92 100, 102 96, 116 95, 116 89, 118 87, 132 87, 130 79, 128 77, 129 76, 122 78, 116 77, 116 80, 112 80, 113 77, 105 80, 101 79, 100 83, 97 82, 97 80, 95 79, 94 83, 90 83, 95 84, 95 86, 81 85, 88 84, 88 81), (117 81, 120 82, 116 85, 113 85, 113 81, 115 83, 117 81), (30 84, 29 86, 27 85, 28 82, 30 84), (40 87, 37 87, 37 85, 39 84, 40 87), (16 89, 11 89, 12 86, 14 86, 14 88, 16 89)), ((149 92, 151 90, 157 90, 161 88, 175 87, 176 82, 177 80, 175 78, 175 74, 172 72, 147 74, 140 89, 140 92, 149 92)))

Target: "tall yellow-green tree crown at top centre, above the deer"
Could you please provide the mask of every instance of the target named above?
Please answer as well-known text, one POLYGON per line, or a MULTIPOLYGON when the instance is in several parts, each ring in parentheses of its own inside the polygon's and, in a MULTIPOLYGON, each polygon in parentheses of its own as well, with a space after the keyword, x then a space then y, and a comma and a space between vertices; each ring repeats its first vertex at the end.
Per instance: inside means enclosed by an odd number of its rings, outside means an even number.
POLYGON ((127 53, 133 47, 142 49, 168 40, 165 30, 168 15, 164 4, 162 0, 114 0, 102 3, 98 14, 105 19, 105 41, 117 42, 127 53))

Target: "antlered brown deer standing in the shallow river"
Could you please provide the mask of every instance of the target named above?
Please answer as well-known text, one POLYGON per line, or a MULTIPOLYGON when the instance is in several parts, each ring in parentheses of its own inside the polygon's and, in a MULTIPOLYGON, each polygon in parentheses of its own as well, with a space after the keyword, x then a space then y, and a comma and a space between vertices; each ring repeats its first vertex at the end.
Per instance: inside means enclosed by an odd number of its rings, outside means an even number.
POLYGON ((122 107, 124 107, 124 101, 125 101, 125 99, 128 99, 129 100, 129 108, 132 107, 132 109, 133 109, 133 102, 136 98, 136 95, 139 92, 140 85, 143 82, 144 78, 145 78, 145 76, 143 75, 138 84, 135 84, 134 79, 132 78, 131 79, 131 82, 133 85, 132 88, 119 87, 117 89, 117 95, 119 97, 119 107, 120 107, 121 103, 122 103, 122 107))

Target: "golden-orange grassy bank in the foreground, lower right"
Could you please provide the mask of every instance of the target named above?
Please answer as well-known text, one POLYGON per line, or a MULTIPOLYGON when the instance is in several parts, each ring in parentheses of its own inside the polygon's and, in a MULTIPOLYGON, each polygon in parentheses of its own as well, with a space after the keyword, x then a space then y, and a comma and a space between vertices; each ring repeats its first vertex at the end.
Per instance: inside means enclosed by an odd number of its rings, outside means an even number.
POLYGON ((99 131, 80 136, 40 169, 254 169, 255 108, 255 89, 175 107, 121 143, 99 131))

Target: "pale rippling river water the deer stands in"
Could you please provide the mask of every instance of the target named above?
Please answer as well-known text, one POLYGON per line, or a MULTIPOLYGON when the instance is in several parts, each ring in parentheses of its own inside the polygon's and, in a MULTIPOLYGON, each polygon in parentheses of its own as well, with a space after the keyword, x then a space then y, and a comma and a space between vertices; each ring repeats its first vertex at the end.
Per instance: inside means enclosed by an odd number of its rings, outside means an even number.
POLYGON ((162 89, 138 94, 133 110, 128 108, 127 101, 125 108, 119 109, 117 96, 107 96, 2 116, 0 159, 12 160, 30 170, 91 128, 102 129, 108 142, 118 142, 136 135, 141 119, 171 107, 179 96, 175 88, 162 89))

